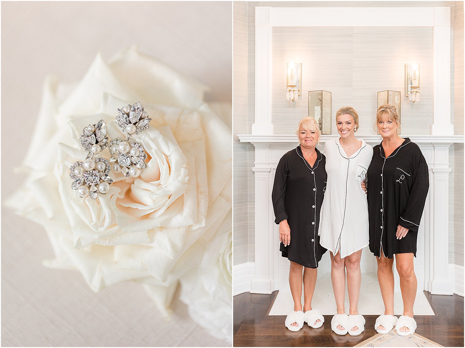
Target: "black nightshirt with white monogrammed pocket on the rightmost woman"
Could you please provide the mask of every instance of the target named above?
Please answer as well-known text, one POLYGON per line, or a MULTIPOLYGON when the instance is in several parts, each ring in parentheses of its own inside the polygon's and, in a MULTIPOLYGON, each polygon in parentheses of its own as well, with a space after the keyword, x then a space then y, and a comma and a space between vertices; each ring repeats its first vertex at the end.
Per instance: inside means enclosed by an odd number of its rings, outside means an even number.
POLYGON ((373 158, 367 172, 368 221, 370 250, 385 257, 417 253, 417 235, 426 195, 428 165, 417 144, 409 138, 385 158, 381 144, 373 147, 373 158), (397 226, 409 229, 402 239, 396 238, 397 226))

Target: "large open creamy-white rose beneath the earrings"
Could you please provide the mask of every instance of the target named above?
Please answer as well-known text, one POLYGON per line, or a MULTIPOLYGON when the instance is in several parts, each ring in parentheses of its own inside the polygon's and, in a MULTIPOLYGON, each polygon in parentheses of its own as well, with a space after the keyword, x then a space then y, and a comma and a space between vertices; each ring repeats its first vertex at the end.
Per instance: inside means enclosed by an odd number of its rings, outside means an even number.
MULTIPOLYGON (((40 223, 52 244, 49 267, 78 269, 94 291, 121 281, 145 288, 169 313, 189 255, 231 229, 231 130, 202 100, 206 88, 138 53, 106 63, 100 55, 75 86, 47 78, 25 183, 7 204, 40 223), (96 201, 71 189, 69 166, 82 161, 80 132, 103 119, 121 137, 117 108, 140 101, 151 128, 134 135, 149 156, 138 178, 115 182, 96 201), (165 106, 163 106, 165 105, 165 106)), ((108 158, 108 152, 102 153, 108 158)))

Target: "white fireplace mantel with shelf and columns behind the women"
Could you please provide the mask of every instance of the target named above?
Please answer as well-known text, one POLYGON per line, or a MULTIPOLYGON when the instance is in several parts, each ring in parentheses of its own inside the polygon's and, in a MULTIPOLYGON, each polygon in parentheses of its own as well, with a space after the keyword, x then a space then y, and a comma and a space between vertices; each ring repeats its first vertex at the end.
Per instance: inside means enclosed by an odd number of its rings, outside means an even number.
MULTIPOLYGON (((320 137, 321 147, 336 135, 320 137)), ((379 135, 358 135, 366 143, 379 144, 379 135)), ((424 219, 420 228, 424 238, 419 237, 415 259, 419 289, 432 294, 452 295, 452 275, 449 275, 448 260, 448 205, 449 205, 449 147, 464 143, 463 136, 413 135, 430 170, 430 190, 426 199, 424 219), (420 245, 421 244, 421 245, 420 245)), ((277 228, 273 221, 271 192, 274 172, 279 158, 297 145, 295 135, 239 135, 241 142, 255 147, 255 276, 251 282, 252 293, 271 293, 279 289, 279 243, 277 228)))

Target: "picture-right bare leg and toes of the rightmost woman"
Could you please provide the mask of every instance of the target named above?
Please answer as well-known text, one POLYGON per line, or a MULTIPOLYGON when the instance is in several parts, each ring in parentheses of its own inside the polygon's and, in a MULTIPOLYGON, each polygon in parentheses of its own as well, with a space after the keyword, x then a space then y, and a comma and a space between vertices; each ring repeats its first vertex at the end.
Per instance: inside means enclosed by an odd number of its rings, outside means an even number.
MULTIPOLYGON (((404 315, 413 318, 413 303, 417 295, 417 277, 413 270, 413 253, 396 254, 396 268, 400 278, 404 315)), ((403 326, 399 330, 407 332, 409 329, 403 326)))

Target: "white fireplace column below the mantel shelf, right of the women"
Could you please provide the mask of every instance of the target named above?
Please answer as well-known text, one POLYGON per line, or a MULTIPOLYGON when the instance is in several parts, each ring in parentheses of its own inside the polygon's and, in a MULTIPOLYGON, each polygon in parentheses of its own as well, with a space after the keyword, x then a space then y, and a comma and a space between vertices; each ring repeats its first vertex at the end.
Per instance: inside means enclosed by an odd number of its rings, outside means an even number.
MULTIPOLYGON (((427 288, 432 294, 452 295, 449 275, 449 146, 433 144, 434 167, 432 196, 432 233, 430 233, 429 276, 427 288), (432 257, 431 257, 432 256, 432 257)), ((431 180, 430 180, 431 181, 431 180)))

